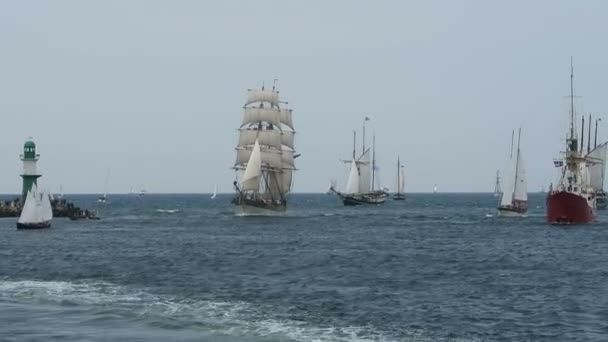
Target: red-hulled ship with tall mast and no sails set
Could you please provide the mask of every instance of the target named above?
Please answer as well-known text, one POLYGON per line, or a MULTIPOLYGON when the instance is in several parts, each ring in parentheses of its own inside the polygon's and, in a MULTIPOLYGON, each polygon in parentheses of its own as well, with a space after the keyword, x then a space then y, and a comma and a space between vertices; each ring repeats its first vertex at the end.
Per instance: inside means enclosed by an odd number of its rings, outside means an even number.
MULTIPOLYGON (((576 135, 576 110, 574 109, 574 68, 570 64, 570 130, 566 136, 566 151, 554 161, 560 168, 557 185, 547 194, 547 221, 551 224, 582 224, 596 217, 596 194, 589 183, 586 168, 587 156, 583 154, 583 141, 576 135)), ((581 137, 584 127, 581 129, 581 137)))

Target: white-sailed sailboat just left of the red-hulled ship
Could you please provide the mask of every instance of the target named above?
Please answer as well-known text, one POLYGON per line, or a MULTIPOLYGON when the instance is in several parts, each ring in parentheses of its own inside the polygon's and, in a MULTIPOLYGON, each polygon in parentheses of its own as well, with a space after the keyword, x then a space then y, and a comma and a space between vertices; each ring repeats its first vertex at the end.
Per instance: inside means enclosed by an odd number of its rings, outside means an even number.
POLYGON ((522 216, 528 211, 528 180, 520 146, 521 128, 515 155, 513 155, 514 134, 515 132, 511 134, 511 154, 505 172, 504 189, 497 208, 499 216, 522 216))

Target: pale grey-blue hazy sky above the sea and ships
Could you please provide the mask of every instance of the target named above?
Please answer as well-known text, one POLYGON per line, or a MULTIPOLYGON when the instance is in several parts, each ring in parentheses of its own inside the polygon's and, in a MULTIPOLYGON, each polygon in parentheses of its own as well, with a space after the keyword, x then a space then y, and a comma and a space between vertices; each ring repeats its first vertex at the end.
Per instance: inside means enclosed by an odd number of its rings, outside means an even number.
MULTIPOLYGON (((32 137, 42 186, 230 192, 246 91, 278 79, 295 192, 343 184, 365 116, 383 185, 493 191, 522 128, 530 191, 554 181, 577 109, 608 139, 605 1, 0 2, 0 193, 32 137)), ((368 141, 369 141, 368 140, 368 141)))

